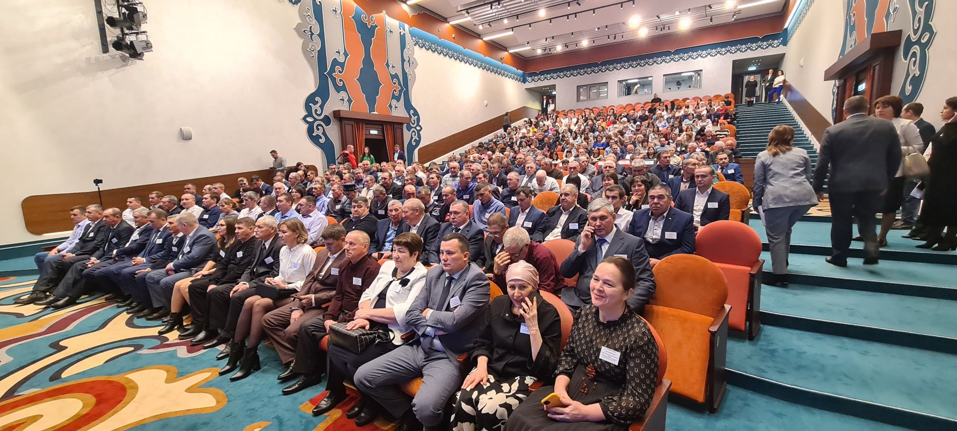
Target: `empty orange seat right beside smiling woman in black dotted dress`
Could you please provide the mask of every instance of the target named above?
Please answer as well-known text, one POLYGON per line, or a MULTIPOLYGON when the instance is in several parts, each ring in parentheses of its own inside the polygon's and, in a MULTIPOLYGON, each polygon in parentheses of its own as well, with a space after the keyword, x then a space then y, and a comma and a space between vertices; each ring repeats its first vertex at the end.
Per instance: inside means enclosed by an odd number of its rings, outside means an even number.
POLYGON ((671 392, 718 410, 724 395, 727 347, 727 281, 722 270, 694 254, 674 254, 655 266, 657 288, 645 306, 672 363, 671 392))

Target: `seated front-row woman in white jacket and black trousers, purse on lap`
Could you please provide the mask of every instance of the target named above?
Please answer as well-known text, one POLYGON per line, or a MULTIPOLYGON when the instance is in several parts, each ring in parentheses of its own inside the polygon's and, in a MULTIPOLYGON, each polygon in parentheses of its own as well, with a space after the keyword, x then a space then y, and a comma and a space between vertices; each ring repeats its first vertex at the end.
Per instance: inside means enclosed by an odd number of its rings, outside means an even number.
MULTIPOLYGON (((345 400, 345 379, 351 380, 360 366, 412 340, 403 339, 402 335, 412 331, 406 326, 406 311, 425 286, 427 269, 419 263, 423 248, 422 238, 412 232, 400 233, 392 240, 392 259, 382 264, 379 275, 359 299, 355 317, 345 326, 347 330, 388 328, 391 342, 368 346, 359 355, 329 344, 329 381, 325 386, 329 393, 313 409, 314 416, 325 414, 345 400)), ((363 394, 345 417, 355 418, 356 426, 364 426, 365 420, 375 419, 370 412, 382 411, 374 404, 375 401, 363 394), (367 413, 360 416, 364 411, 367 413)))

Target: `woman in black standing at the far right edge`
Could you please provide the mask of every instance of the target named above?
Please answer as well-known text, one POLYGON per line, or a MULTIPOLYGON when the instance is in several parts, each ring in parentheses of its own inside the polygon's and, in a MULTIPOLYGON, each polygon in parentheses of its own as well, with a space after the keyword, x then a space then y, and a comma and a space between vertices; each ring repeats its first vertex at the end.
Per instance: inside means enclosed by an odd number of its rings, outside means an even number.
POLYGON ((957 97, 946 99, 941 119, 946 124, 930 140, 930 177, 926 180, 921 209, 921 221, 927 226, 929 239, 917 247, 946 251, 957 248, 957 181, 949 172, 957 163, 957 97), (942 238, 945 226, 947 234, 942 238))

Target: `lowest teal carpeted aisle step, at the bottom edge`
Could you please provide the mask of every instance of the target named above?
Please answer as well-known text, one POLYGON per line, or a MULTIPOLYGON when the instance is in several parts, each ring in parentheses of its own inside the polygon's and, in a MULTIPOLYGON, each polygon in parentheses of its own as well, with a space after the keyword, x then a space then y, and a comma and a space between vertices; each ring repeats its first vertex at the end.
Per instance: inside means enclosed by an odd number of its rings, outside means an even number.
POLYGON ((712 415, 676 402, 668 403, 669 430, 755 431, 834 430, 902 431, 906 428, 818 410, 728 386, 718 413, 712 415))

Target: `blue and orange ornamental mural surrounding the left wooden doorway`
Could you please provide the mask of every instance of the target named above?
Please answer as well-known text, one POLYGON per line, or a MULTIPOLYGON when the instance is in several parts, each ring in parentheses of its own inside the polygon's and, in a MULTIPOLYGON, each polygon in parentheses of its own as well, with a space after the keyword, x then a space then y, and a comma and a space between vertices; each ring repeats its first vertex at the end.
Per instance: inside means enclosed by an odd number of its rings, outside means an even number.
POLYGON ((385 12, 368 14, 351 0, 303 0, 300 15, 296 31, 317 84, 302 121, 326 162, 337 156, 330 126, 340 109, 408 117, 403 146, 415 154, 422 125, 411 98, 416 62, 409 26, 385 12))

